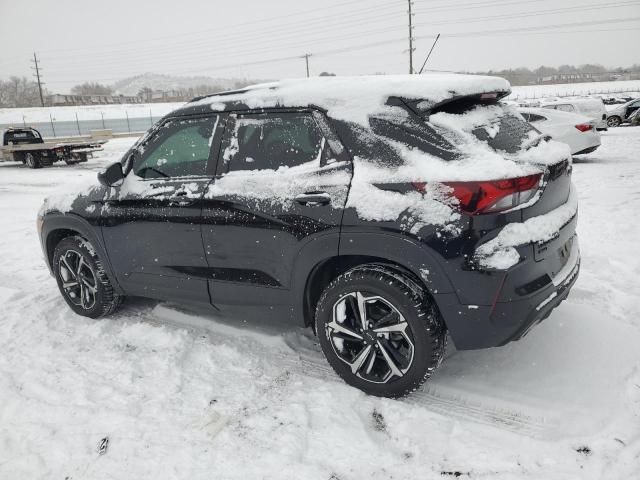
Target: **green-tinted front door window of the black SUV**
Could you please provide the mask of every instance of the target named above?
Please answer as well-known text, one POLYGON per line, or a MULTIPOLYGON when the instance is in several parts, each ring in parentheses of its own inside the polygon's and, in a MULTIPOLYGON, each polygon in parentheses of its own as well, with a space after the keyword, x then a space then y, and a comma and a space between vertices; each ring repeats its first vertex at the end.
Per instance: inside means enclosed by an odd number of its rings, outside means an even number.
POLYGON ((133 173, 142 178, 205 175, 214 124, 215 117, 170 120, 142 145, 133 173))

